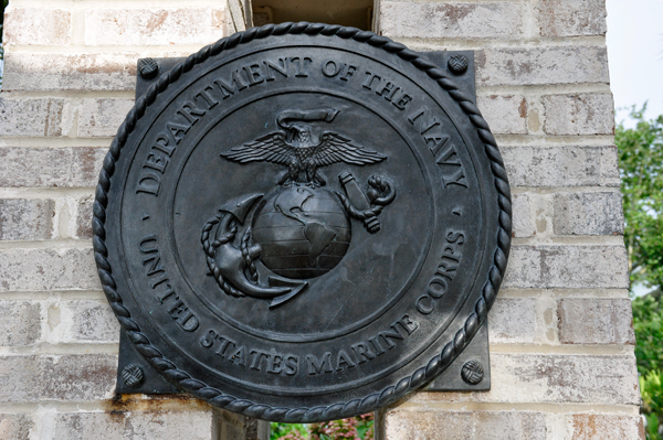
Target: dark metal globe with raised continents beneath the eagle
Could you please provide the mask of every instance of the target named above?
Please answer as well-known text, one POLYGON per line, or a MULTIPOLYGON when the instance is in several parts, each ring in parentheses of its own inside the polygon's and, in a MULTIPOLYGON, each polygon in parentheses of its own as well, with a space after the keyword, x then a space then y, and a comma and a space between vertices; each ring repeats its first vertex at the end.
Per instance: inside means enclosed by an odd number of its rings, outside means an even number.
POLYGON ((325 187, 280 187, 257 208, 252 230, 262 262, 286 278, 327 273, 350 246, 350 219, 325 187))

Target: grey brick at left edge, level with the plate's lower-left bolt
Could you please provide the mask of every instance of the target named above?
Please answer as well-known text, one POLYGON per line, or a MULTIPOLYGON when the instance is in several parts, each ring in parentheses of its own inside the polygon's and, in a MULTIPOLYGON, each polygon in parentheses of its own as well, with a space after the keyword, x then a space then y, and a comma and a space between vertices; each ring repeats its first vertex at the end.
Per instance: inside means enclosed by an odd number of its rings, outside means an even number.
POLYGON ((116 375, 116 355, 2 355, 0 401, 107 399, 116 375))

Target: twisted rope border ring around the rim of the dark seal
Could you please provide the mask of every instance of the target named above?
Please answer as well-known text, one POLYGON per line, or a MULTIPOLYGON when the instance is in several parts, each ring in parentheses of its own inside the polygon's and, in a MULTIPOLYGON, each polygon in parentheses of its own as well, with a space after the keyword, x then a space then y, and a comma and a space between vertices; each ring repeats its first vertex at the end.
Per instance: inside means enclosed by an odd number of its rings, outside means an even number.
POLYGON ((262 28, 252 28, 244 32, 235 33, 201 49, 198 53, 191 54, 187 60, 161 75, 159 79, 147 89, 146 94, 138 98, 134 108, 131 108, 124 122, 119 126, 117 136, 110 143, 110 149, 104 159, 103 169, 99 173, 93 214, 93 247, 97 272, 106 298, 110 303, 110 308, 138 352, 158 368, 168 380, 177 384, 178 387, 198 398, 233 412, 240 412, 263 420, 283 422, 334 420, 365 414, 401 399, 408 393, 415 390, 435 377, 435 375, 449 366, 453 358, 461 353, 472 340, 478 330, 478 326, 486 319, 488 309, 495 301, 497 290, 499 289, 506 270, 512 233, 511 190, 504 163, 499 155, 499 151, 497 150, 495 138, 491 133, 488 125, 482 117, 478 108, 472 103, 471 97, 459 90, 459 87, 442 68, 428 60, 422 58, 417 52, 407 49, 400 43, 396 43, 386 36, 377 35, 369 31, 361 31, 356 28, 308 22, 288 22, 277 25, 267 24, 262 28), (371 46, 382 49, 388 53, 396 54, 400 58, 410 62, 417 68, 425 72, 459 103, 463 111, 470 117, 474 127, 476 127, 478 137, 484 142, 485 153, 491 161, 491 169, 495 178, 495 189, 498 194, 497 203, 499 206, 497 249, 493 256, 493 266, 488 272, 488 280, 483 287, 481 298, 476 301, 474 312, 465 320, 465 324, 456 332, 453 340, 448 342, 440 354, 430 359, 427 366, 417 369, 411 376, 400 379, 396 385, 386 387, 381 391, 373 393, 362 399, 354 399, 347 403, 337 403, 314 408, 271 407, 255 404, 250 400, 238 399, 236 397, 224 394, 221 390, 210 387, 203 382, 191 377, 188 373, 179 369, 177 365, 164 357, 161 352, 152 346, 147 336, 140 332, 138 323, 131 319, 129 311, 124 307, 122 297, 117 292, 117 285, 113 279, 110 264, 107 259, 108 249, 105 244, 106 207, 108 206, 108 191, 110 190, 110 179, 115 171, 115 163, 119 158, 129 133, 134 131, 136 122, 145 115, 147 107, 154 104, 157 96, 166 90, 171 83, 178 81, 183 73, 191 71, 197 64, 207 61, 210 56, 217 56, 224 50, 235 47, 239 44, 249 43, 256 39, 284 34, 320 34, 325 36, 338 36, 345 40, 351 39, 360 43, 367 43, 371 46))

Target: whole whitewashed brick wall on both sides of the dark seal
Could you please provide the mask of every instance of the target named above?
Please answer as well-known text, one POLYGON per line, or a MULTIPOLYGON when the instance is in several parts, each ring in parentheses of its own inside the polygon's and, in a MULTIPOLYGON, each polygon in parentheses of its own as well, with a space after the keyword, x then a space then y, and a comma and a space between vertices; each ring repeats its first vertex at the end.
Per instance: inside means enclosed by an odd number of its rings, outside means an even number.
MULTIPOLYGON (((242 30, 240 1, 11 0, 0 95, 0 439, 244 439, 187 398, 115 399, 118 325, 92 259, 93 187, 135 62, 242 30)), ((602 0, 386 1, 378 31, 475 50, 514 192, 490 393, 410 396, 388 440, 643 436, 602 0)))

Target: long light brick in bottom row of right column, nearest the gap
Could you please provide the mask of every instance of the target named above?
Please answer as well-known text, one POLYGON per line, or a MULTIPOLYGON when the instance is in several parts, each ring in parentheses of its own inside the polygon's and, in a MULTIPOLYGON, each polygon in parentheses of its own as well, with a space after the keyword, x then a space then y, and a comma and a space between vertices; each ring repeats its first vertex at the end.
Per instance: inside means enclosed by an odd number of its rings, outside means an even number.
POLYGON ((545 440, 546 417, 534 411, 403 411, 385 417, 389 440, 545 440))

